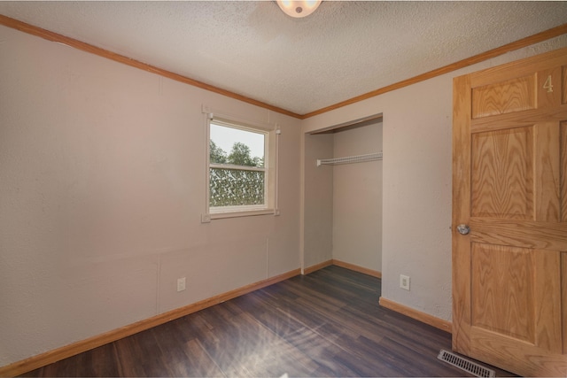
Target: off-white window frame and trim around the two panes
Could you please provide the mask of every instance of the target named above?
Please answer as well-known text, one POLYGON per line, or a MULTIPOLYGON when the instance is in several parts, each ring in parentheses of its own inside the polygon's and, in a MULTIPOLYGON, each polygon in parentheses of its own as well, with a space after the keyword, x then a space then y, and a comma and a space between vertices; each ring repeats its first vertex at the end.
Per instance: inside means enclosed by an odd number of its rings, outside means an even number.
POLYGON ((277 208, 277 155, 278 136, 280 130, 275 124, 254 123, 239 120, 236 117, 206 112, 206 206, 201 215, 201 222, 223 218, 237 218, 254 215, 279 215, 277 208), (234 166, 229 164, 211 164, 210 162, 210 131, 211 123, 222 127, 232 127, 248 132, 260 133, 264 137, 264 166, 234 166), (237 205, 237 206, 210 206, 210 168, 241 169, 246 171, 264 172, 264 204, 237 205))

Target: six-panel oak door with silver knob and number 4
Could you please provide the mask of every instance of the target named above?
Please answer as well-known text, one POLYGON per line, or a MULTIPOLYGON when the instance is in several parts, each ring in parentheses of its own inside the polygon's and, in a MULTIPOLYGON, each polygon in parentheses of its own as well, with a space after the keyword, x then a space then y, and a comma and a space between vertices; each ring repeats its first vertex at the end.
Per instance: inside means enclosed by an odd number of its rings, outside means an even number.
POLYGON ((567 49, 455 78, 453 133, 453 349, 567 376, 567 49))

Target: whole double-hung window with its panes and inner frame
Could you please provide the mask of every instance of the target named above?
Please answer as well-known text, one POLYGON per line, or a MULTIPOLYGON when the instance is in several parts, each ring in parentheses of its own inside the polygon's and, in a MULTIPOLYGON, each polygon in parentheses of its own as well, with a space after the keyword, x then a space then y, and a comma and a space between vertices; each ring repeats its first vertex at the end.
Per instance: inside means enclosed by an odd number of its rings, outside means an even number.
POLYGON ((209 116, 208 219, 275 213, 276 131, 209 116))

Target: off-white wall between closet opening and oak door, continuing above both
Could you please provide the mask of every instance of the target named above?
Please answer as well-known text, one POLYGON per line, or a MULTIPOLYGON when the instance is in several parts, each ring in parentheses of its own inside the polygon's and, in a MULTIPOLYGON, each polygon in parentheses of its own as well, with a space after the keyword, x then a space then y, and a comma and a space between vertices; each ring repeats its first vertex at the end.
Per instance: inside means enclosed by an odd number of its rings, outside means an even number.
POLYGON ((303 121, 309 133, 384 114, 383 297, 451 320, 453 78, 564 46, 567 35, 303 121))

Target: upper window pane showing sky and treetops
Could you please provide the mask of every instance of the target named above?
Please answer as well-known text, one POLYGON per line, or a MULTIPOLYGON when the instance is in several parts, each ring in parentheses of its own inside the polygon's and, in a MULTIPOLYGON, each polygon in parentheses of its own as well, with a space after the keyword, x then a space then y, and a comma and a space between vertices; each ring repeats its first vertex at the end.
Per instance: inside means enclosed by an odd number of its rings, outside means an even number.
POLYGON ((211 163, 264 166, 263 133, 255 133, 211 122, 211 163))

